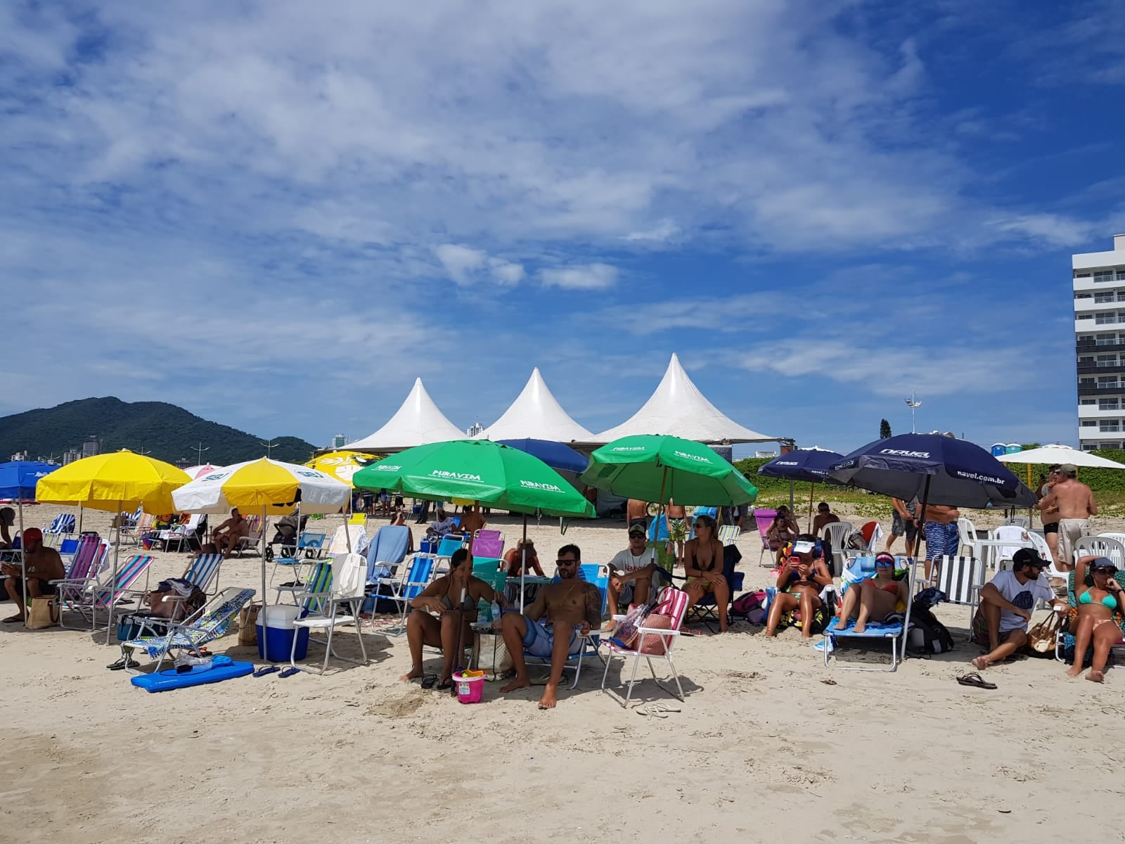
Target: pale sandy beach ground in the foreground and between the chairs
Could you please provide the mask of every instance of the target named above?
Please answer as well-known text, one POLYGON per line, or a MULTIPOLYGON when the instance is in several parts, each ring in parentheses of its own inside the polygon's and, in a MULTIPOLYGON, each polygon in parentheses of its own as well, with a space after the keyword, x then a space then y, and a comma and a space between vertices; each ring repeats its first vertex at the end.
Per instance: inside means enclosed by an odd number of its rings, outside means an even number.
MULTIPOLYGON (((27 524, 56 512, 29 508, 27 524)), ((514 541, 515 519, 493 521, 514 541)), ((107 514, 87 511, 86 523, 108 533, 107 514)), ((584 562, 626 546, 620 521, 572 524, 562 538, 544 520, 529 533, 548 556, 576 542, 584 562)), ((748 585, 766 585, 757 536, 739 547, 748 585)), ((187 555, 156 557, 153 583, 180 574, 187 555)), ((256 556, 231 559, 220 585, 254 586, 259 572, 256 556)), ((1082 837, 1125 839, 1125 680, 1071 681, 1062 664, 1027 658, 990 668, 994 691, 961 686, 978 653, 969 611, 937 614, 957 649, 893 674, 825 668, 796 630, 771 640, 735 623, 683 637, 687 700, 663 719, 601 692, 596 661, 554 711, 537 709, 534 686, 501 695, 493 682, 483 704, 462 706, 399 682, 405 639, 379 634, 366 635, 368 666, 150 694, 106 670, 118 650, 104 631, 6 625, 0 842, 957 844, 1047 841, 1070 816, 1082 837)), ((354 649, 352 629, 341 639, 354 649)), ((258 661, 233 635, 212 649, 258 661)), ((675 703, 651 682, 634 697, 675 703)))

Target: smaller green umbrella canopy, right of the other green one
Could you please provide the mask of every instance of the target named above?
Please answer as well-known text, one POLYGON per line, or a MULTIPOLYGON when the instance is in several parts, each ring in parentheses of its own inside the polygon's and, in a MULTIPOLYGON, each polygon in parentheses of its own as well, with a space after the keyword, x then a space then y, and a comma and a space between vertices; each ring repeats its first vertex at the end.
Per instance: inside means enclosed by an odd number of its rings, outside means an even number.
POLYGON ((706 446, 678 437, 622 437, 592 455, 578 479, 640 501, 732 506, 748 504, 758 488, 706 446))

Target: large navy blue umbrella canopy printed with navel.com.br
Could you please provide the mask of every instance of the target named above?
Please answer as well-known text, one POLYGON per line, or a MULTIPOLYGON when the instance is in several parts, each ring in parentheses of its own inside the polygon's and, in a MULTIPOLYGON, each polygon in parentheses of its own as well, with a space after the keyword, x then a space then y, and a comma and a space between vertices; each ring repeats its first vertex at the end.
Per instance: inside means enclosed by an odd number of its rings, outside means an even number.
POLYGON ((925 505, 1034 506, 1028 490, 1002 463, 972 442, 936 433, 902 433, 868 442, 838 460, 828 477, 925 505))

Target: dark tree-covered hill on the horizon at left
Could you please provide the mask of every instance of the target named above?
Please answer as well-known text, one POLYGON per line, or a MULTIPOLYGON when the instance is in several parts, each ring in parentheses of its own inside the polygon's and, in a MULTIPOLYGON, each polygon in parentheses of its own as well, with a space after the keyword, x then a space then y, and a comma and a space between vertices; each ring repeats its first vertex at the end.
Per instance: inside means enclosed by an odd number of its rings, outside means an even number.
MULTIPOLYGON (((133 402, 107 396, 82 398, 11 416, 0 417, 0 461, 17 451, 27 451, 30 459, 61 455, 72 448, 81 451, 87 437, 101 440, 102 451, 127 448, 144 451, 160 460, 180 459, 197 463, 192 446, 202 442, 204 463, 218 465, 254 460, 264 456, 255 437, 227 425, 208 422, 174 404, 133 402)), ((315 446, 296 437, 277 437, 270 452, 276 460, 305 463, 315 446)))

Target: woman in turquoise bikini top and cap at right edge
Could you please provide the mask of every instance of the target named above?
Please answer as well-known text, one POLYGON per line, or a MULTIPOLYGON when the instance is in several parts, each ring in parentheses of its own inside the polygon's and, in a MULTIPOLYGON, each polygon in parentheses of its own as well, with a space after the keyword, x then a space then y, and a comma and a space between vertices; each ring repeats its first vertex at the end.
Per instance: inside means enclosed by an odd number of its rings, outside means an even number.
POLYGON ((1109 648, 1122 637, 1120 621, 1125 612, 1125 592, 1114 577, 1117 566, 1108 557, 1079 557, 1074 563, 1074 598, 1077 612, 1071 617, 1074 632, 1074 662, 1066 672, 1077 677, 1082 673, 1086 652, 1094 645, 1094 659, 1087 680, 1100 683, 1106 675, 1109 648), (1086 581, 1086 568, 1090 568, 1092 585, 1086 581))

